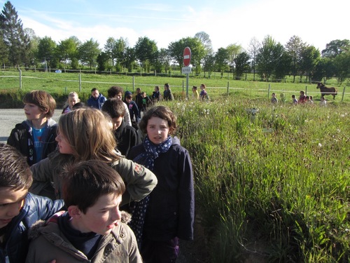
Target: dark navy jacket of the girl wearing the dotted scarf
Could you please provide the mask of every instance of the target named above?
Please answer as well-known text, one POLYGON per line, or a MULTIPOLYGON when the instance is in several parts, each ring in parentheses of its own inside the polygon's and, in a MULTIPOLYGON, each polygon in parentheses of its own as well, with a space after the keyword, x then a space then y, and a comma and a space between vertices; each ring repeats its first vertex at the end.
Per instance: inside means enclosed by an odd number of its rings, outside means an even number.
MULTIPOLYGON (((128 159, 144 152, 144 144, 130 149, 128 159)), ((153 173, 158 184, 150 194, 144 223, 144 237, 167 241, 178 237, 193 240, 195 190, 188 151, 174 137, 172 146, 155 159, 153 173)))

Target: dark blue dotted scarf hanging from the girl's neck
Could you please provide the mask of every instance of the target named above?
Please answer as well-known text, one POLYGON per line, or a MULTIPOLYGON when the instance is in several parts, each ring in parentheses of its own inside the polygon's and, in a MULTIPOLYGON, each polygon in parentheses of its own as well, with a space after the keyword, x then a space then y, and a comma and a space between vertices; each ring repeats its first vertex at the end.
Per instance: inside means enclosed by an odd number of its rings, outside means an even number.
MULTIPOLYGON (((145 151, 136 156, 132 161, 142 164, 149 170, 153 171, 155 159, 157 159, 160 154, 167 152, 172 146, 172 137, 168 136, 167 140, 155 145, 151 142, 151 140, 149 140, 148 135, 146 135, 143 144, 145 151)), ((141 249, 142 234, 144 231, 144 222, 149 200, 150 196, 148 195, 141 201, 130 204, 132 221, 130 222, 129 226, 132 231, 134 231, 139 249, 141 249)))

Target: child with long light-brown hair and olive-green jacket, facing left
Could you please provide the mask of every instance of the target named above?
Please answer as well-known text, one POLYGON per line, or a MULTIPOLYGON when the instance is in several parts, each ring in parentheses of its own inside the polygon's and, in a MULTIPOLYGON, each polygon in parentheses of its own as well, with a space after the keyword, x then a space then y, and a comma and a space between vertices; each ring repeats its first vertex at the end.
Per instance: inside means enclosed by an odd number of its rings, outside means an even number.
MULTIPOLYGON (((150 170, 118 154, 116 139, 102 111, 93 108, 74 109, 59 117, 58 131, 56 140, 59 151, 31 166, 38 184, 53 182, 56 198, 62 198, 62 167, 90 159, 109 163, 120 173, 127 184, 124 203, 148 196, 157 184, 157 178, 150 170)), ((31 191, 41 194, 39 187, 32 187, 31 191)))

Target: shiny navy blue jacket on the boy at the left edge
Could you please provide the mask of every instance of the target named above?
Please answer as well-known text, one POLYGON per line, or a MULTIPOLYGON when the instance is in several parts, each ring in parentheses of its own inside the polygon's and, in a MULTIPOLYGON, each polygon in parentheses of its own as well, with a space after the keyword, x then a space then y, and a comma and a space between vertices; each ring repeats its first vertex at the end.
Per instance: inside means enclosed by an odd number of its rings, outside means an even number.
POLYGON ((20 214, 13 217, 7 226, 6 243, 4 248, 0 247, 0 263, 25 262, 29 246, 29 227, 38 220, 48 220, 63 205, 62 200, 52 201, 50 198, 28 193, 20 214))

